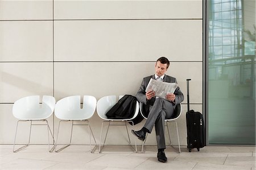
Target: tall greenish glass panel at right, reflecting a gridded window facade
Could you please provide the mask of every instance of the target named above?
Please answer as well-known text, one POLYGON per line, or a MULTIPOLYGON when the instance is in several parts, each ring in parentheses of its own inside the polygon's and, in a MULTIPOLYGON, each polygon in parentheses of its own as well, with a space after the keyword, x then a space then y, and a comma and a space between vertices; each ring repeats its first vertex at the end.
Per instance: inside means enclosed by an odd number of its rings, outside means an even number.
POLYGON ((255 144, 255 1, 208 9, 208 142, 255 144))

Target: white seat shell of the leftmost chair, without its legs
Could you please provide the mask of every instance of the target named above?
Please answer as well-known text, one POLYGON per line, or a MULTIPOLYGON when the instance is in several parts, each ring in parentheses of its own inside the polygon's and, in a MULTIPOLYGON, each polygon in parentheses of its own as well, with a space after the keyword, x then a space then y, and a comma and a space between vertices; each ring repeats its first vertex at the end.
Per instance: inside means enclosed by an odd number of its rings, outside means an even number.
POLYGON ((50 117, 55 107, 55 98, 43 96, 42 105, 40 96, 27 96, 18 99, 13 105, 13 115, 18 119, 39 120, 50 117))

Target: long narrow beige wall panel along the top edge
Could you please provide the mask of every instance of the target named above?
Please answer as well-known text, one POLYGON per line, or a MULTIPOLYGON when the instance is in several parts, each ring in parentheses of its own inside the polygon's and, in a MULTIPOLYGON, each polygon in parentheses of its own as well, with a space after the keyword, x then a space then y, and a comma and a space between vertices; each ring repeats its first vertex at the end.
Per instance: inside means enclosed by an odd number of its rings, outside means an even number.
POLYGON ((202 19, 203 1, 54 1, 55 19, 202 19))

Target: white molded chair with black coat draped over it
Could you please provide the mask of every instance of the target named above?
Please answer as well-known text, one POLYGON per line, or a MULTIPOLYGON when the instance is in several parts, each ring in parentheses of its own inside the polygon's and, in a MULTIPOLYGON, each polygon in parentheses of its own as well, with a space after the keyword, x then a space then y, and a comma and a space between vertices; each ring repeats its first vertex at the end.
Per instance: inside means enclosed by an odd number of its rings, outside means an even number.
MULTIPOLYGON (((119 99, 121 99, 123 96, 119 96, 119 99)), ((137 144, 136 144, 136 140, 135 140, 135 149, 134 147, 131 145, 131 140, 130 140, 130 136, 129 136, 129 132, 128 132, 128 128, 127 128, 127 122, 131 122, 133 129, 134 129, 134 123, 133 123, 133 119, 135 117, 137 117, 138 113, 139 113, 139 103, 137 101, 136 104, 136 109, 135 109, 135 113, 134 116, 132 118, 129 119, 109 119, 106 117, 106 113, 115 105, 115 103, 117 103, 116 101, 116 96, 105 96, 102 97, 101 99, 98 100, 97 102, 97 113, 98 116, 103 119, 104 121, 101 124, 101 137, 100 137, 100 147, 99 147, 99 153, 101 153, 102 148, 105 146, 105 142, 106 142, 106 137, 108 135, 108 130, 109 130, 109 126, 126 126, 126 131, 127 131, 127 135, 128 135, 128 139, 129 139, 129 145, 133 148, 133 150, 135 150, 137 152, 137 144), (106 131, 106 136, 104 139, 104 143, 103 146, 101 148, 101 138, 102 138, 102 130, 103 130, 103 125, 104 122, 109 122, 108 124, 108 128, 106 131), (112 122, 124 122, 124 125, 116 125, 116 124, 111 124, 112 122)))

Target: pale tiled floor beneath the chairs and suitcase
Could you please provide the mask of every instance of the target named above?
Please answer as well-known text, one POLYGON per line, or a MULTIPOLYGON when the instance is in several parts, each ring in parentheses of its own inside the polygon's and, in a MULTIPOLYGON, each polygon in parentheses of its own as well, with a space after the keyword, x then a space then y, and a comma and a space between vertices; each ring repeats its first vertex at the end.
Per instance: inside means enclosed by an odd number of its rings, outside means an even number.
POLYGON ((49 153, 48 146, 28 146, 17 153, 12 146, 0 147, 0 169, 256 169, 255 147, 207 146, 200 152, 183 147, 181 154, 167 147, 167 163, 156 159, 155 146, 147 146, 144 154, 128 146, 106 146, 101 154, 91 154, 89 146, 69 146, 58 153, 49 153))

